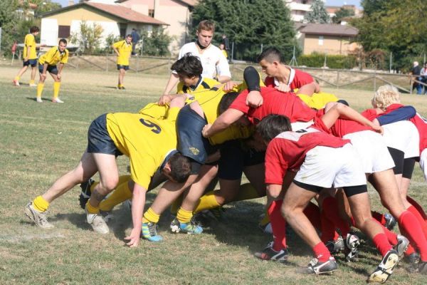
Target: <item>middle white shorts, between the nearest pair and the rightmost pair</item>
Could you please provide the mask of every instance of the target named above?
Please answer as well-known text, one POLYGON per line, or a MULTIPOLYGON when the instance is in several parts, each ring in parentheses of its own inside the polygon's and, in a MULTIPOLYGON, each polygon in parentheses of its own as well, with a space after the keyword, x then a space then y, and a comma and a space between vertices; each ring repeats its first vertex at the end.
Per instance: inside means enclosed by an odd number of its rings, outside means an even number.
POLYGON ((371 130, 349 133, 342 138, 352 141, 365 173, 381 172, 394 167, 384 138, 371 130))

